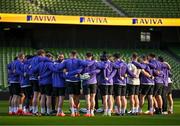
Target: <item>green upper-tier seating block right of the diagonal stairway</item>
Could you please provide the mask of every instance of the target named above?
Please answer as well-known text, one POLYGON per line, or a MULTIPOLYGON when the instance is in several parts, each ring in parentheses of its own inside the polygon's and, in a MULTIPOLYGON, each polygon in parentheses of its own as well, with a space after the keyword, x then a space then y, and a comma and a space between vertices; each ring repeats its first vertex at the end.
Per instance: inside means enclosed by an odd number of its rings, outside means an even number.
POLYGON ((180 17, 179 0, 110 0, 129 17, 180 17))

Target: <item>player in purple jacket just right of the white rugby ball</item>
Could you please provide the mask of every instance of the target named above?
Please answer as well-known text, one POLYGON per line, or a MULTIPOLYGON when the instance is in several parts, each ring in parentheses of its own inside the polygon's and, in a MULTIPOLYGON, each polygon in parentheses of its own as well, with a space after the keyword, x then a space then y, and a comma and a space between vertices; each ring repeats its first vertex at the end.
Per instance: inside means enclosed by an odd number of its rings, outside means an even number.
POLYGON ((84 116, 90 117, 94 116, 94 107, 95 107, 95 95, 97 90, 97 78, 96 75, 100 72, 97 69, 96 62, 92 60, 93 54, 88 52, 86 53, 86 62, 91 63, 92 65, 84 67, 82 74, 88 75, 89 78, 83 80, 83 93, 85 95, 86 104, 87 104, 87 113, 84 116))

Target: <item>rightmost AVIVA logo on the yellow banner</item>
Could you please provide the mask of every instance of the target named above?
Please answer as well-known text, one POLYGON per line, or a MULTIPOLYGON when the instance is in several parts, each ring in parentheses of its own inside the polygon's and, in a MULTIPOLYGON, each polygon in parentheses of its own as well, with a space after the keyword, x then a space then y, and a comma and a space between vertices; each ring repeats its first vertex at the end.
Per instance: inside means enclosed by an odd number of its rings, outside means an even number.
POLYGON ((162 19, 153 19, 153 18, 142 18, 142 19, 137 19, 134 18, 132 19, 132 24, 141 24, 141 25, 162 25, 163 20, 162 19))

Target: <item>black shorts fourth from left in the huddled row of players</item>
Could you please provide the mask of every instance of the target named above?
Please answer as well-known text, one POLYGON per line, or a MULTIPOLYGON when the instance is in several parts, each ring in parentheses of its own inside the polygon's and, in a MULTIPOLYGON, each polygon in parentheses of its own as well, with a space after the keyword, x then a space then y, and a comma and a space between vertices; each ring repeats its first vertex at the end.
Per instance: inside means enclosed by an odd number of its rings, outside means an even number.
POLYGON ((52 85, 40 85, 40 92, 43 95, 51 96, 52 95, 52 85))

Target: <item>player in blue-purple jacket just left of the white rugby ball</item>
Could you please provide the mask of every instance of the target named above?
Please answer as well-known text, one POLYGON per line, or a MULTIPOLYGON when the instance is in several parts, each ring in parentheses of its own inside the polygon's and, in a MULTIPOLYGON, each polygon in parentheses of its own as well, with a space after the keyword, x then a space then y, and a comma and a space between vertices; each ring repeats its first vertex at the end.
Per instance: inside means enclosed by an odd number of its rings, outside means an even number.
MULTIPOLYGON (((81 81, 79 78, 79 74, 82 72, 78 71, 78 69, 83 65, 82 60, 77 58, 77 52, 74 50, 70 53, 70 58, 63 62, 64 68, 66 73, 71 73, 74 71, 75 74, 66 76, 66 84, 67 90, 69 94, 69 102, 70 102, 70 109, 71 109, 71 116, 80 116, 79 114, 79 97, 80 97, 80 90, 81 90, 81 81), (76 110, 76 111, 75 111, 76 110)), ((62 67, 62 66, 60 66, 62 67)))

